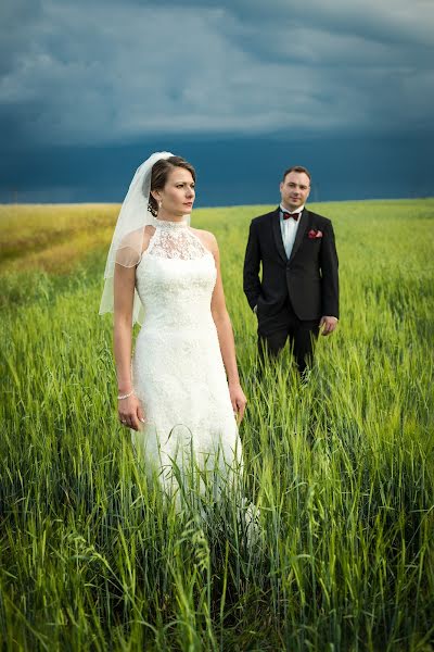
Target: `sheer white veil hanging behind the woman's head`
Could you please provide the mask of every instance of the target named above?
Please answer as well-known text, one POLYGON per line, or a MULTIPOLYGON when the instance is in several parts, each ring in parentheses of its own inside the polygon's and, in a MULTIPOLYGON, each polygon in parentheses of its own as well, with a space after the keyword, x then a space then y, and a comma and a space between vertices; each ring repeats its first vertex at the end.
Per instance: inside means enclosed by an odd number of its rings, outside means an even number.
MULTIPOLYGON (((161 159, 169 159, 170 152, 155 152, 136 171, 128 192, 124 199, 113 234, 112 244, 108 250, 104 273, 104 289, 102 292, 100 315, 113 312, 113 277, 115 264, 124 267, 135 267, 141 258, 143 249, 144 227, 153 223, 153 215, 149 211, 149 196, 151 190, 151 172, 153 165, 161 159)), ((132 323, 141 323, 143 306, 135 289, 132 306, 132 323)))

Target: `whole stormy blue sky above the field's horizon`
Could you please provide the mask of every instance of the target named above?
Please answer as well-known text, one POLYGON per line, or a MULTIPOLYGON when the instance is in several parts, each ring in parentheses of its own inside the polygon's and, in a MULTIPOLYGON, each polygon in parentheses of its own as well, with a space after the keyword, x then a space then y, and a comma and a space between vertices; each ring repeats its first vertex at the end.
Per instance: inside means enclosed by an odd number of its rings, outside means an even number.
POLYGON ((201 205, 434 195, 432 0, 3 0, 0 202, 122 201, 169 149, 201 205))

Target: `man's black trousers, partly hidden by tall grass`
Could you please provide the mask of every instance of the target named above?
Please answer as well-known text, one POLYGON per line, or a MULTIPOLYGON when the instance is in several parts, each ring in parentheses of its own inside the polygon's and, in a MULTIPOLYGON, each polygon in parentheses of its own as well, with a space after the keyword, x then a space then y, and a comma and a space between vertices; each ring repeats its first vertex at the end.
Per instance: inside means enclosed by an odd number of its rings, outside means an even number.
POLYGON ((282 326, 279 330, 269 335, 258 334, 259 359, 264 363, 267 355, 269 358, 277 358, 289 339, 298 372, 303 375, 312 365, 314 347, 318 339, 318 334, 319 319, 312 322, 298 319, 290 309, 286 326, 282 326))

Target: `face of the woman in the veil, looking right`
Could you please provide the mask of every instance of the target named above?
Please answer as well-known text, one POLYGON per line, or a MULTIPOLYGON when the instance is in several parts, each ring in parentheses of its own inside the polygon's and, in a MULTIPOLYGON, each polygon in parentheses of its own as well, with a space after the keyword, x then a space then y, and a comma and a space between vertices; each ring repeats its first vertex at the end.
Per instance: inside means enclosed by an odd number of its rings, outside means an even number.
POLYGON ((183 167, 170 171, 163 190, 157 191, 156 200, 162 202, 158 215, 182 216, 191 213, 195 197, 194 179, 183 167))

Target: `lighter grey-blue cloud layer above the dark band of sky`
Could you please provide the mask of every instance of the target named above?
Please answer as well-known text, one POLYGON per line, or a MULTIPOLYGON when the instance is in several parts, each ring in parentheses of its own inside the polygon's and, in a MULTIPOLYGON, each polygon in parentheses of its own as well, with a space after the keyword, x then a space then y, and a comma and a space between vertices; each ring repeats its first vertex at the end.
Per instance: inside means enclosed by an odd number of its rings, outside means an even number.
POLYGON ((3 0, 3 142, 431 128, 433 5, 3 0))

